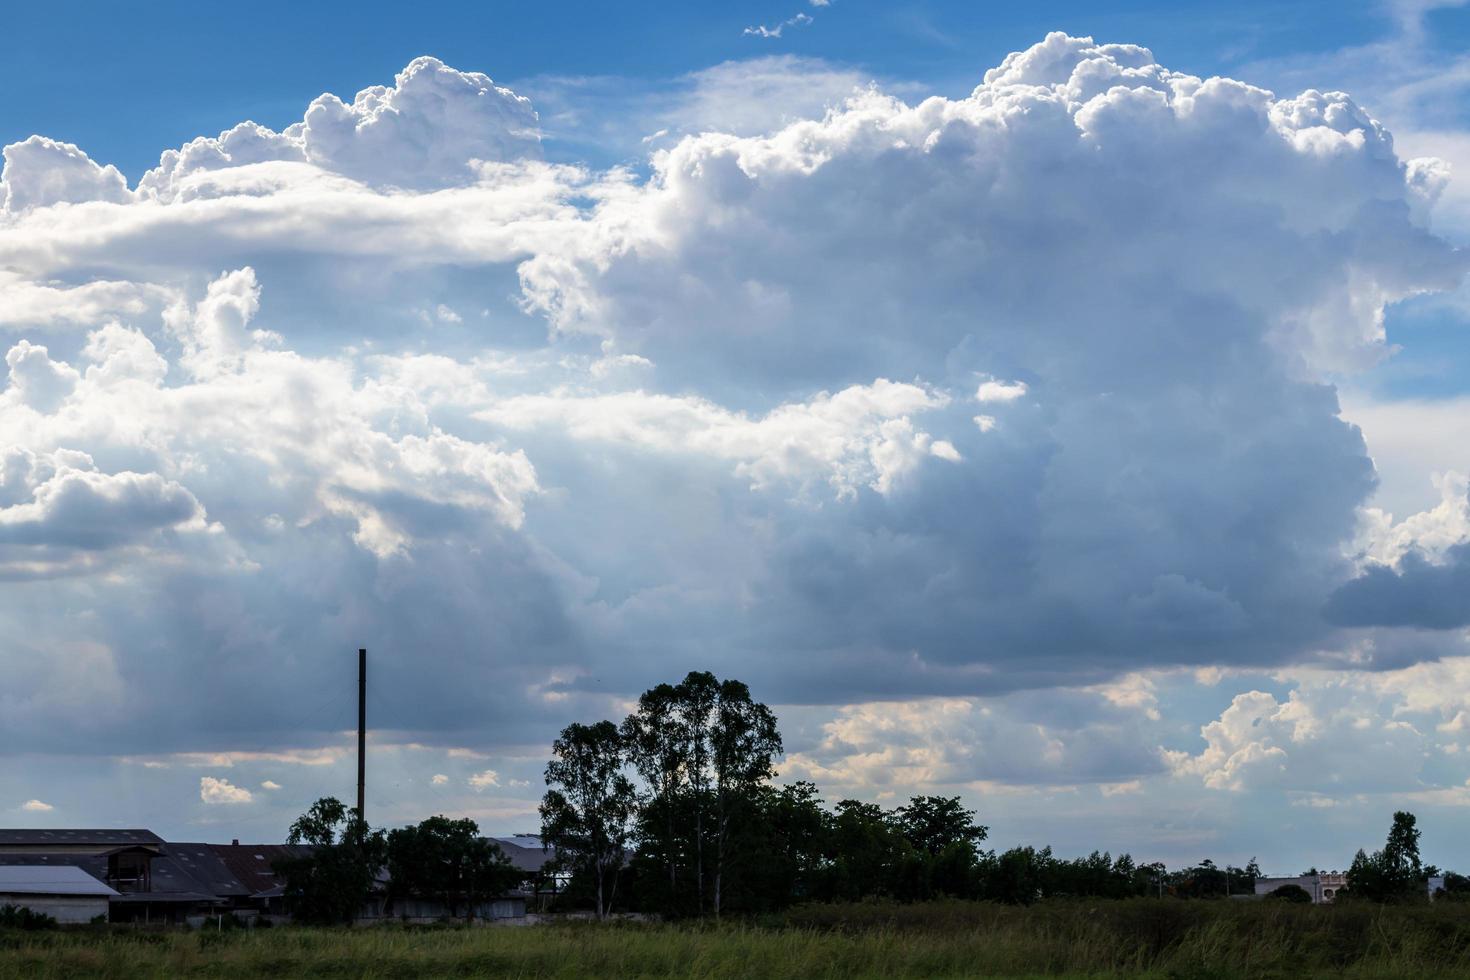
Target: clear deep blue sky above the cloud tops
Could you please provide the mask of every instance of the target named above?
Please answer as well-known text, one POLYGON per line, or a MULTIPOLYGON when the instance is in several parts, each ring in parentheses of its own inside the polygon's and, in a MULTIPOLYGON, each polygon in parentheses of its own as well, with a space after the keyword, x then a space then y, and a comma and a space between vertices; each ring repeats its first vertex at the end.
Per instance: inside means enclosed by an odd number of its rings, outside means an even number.
MULTIPOLYGON (((476 65, 520 88, 542 75, 667 82, 757 54, 789 53, 961 96, 975 75, 1051 29, 1148 37, 1179 71, 1227 73, 1261 59, 1330 54, 1376 41, 1392 10, 1372 3, 260 3, 251 15, 154 3, 146 13, 101 3, 10 12, 0 56, 10 65, 0 138, 46 132, 137 175, 159 148, 241 119, 282 128, 303 93, 348 93, 390 78, 417 54, 476 65), (788 9, 789 7, 789 9, 788 9), (820 18, 776 40, 745 26, 807 10, 820 18), (144 24, 147 29, 144 28, 144 24), (126 93, 126 97, 121 97, 126 93)), ((1470 16, 1430 15, 1435 46, 1463 47, 1470 16)))

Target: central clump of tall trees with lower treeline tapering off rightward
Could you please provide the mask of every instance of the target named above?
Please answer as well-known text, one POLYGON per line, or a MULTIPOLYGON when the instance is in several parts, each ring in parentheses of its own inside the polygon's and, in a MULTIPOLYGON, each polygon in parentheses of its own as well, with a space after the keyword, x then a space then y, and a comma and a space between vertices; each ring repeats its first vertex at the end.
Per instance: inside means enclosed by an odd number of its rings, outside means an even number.
POLYGON ((982 848, 960 799, 828 807, 811 783, 776 786, 775 714, 738 680, 691 673, 638 699, 620 724, 567 726, 551 748, 542 839, 573 873, 564 902, 663 915, 769 912, 803 901, 939 896, 1028 904, 1053 896, 1250 893, 1258 870, 1167 871, 1127 854, 1061 860, 982 848))

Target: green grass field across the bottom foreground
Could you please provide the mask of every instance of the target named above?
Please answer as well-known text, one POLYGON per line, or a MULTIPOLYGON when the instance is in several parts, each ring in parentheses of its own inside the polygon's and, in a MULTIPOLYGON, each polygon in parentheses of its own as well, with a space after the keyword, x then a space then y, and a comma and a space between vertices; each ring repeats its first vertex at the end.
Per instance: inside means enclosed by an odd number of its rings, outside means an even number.
POLYGON ((1467 977, 1470 907, 967 902, 713 924, 0 933, 0 977, 1467 977))

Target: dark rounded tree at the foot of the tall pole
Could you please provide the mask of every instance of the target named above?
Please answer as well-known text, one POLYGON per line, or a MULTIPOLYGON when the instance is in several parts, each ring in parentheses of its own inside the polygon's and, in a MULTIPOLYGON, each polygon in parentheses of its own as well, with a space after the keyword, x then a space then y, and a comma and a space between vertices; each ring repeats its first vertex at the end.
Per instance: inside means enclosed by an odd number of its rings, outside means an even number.
POLYGON ((312 848, 310 857, 275 865, 293 914, 319 926, 351 923, 382 868, 382 830, 372 830, 335 796, 323 796, 291 824, 287 842, 312 848))

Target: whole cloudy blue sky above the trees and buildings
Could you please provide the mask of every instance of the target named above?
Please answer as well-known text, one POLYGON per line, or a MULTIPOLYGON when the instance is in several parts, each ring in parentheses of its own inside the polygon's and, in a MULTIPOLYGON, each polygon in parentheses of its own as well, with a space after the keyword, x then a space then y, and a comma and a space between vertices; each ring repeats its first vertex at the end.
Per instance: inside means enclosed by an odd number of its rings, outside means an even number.
POLYGON ((1470 868, 1470 6, 7 15, 0 824, 534 832, 689 670, 997 846, 1470 868))

